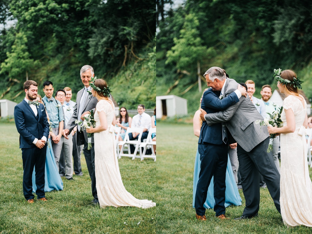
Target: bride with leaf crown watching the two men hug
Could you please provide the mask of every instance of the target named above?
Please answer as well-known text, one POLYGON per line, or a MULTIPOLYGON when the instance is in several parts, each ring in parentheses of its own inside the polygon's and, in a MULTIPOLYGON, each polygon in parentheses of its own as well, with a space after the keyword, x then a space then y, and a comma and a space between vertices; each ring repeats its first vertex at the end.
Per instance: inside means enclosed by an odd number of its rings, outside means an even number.
POLYGON ((286 98, 281 120, 283 127, 268 127, 268 132, 280 133, 280 211, 287 226, 312 227, 312 183, 309 177, 305 128, 308 126, 307 103, 294 87, 295 72, 285 70, 277 83, 286 98))

